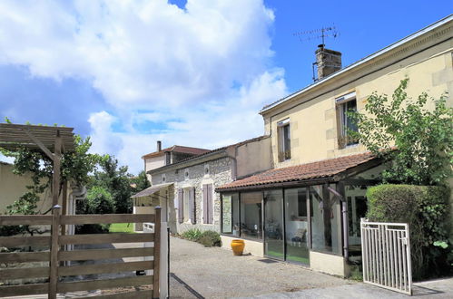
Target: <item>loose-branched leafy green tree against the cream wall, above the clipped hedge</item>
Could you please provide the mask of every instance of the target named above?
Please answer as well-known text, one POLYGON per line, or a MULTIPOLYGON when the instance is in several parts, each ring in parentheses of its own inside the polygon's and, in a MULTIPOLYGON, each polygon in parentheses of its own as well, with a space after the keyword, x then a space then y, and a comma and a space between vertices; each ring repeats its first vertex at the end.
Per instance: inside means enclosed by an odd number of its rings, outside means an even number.
POLYGON ((409 79, 402 80, 391 99, 374 92, 364 112, 349 112, 359 128, 350 134, 391 161, 382 173, 385 182, 440 185, 452 174, 453 109, 446 105, 448 94, 434 100, 423 92, 409 99, 408 84, 409 79), (428 101, 434 110, 427 108, 428 101))

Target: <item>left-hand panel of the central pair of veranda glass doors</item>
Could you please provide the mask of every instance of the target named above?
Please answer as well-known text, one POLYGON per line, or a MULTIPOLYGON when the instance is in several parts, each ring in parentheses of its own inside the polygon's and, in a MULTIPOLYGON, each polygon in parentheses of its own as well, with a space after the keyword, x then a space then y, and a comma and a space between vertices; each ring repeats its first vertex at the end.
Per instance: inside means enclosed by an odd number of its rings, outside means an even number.
POLYGON ((264 191, 264 255, 285 258, 283 191, 264 191))

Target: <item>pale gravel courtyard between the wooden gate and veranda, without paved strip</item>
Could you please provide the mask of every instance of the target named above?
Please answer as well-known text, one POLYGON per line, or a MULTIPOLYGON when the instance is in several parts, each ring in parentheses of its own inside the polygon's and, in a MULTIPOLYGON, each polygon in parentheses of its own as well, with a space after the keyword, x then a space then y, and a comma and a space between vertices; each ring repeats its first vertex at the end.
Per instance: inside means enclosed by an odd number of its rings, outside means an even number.
POLYGON ((171 272, 205 298, 247 297, 354 284, 298 265, 266 264, 262 259, 233 256, 226 249, 171 238, 171 272))

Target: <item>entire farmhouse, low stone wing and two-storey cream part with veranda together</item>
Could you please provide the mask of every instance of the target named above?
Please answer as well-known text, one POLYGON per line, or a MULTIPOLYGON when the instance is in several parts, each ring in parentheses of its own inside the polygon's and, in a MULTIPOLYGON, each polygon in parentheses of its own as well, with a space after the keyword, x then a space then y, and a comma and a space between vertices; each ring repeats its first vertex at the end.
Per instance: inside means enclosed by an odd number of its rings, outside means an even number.
POLYGON ((137 205, 160 205, 172 232, 220 231, 225 248, 241 238, 254 256, 348 276, 383 165, 350 138, 346 111, 405 78, 409 97, 453 94, 452 25, 449 15, 344 68, 340 52, 320 45, 315 82, 260 111, 265 136, 148 170, 153 186, 137 205))

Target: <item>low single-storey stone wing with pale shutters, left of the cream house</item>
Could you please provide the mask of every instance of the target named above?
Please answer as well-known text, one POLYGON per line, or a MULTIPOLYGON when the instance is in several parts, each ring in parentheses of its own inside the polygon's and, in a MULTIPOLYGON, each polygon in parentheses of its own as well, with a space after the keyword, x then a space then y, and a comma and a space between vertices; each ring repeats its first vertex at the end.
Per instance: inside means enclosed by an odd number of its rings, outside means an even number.
POLYGON ((213 149, 148 171, 151 205, 162 207, 173 233, 193 227, 220 232, 221 202, 214 189, 271 167, 269 136, 213 149))

